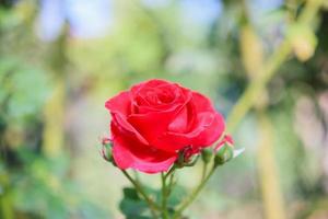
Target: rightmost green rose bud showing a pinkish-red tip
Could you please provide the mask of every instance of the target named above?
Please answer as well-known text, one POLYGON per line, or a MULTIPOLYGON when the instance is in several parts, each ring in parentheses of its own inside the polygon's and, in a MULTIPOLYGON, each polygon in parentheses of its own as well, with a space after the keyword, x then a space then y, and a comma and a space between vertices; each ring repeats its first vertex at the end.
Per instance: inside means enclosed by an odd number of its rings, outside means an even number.
POLYGON ((218 143, 218 146, 214 149, 216 151, 214 158, 214 165, 222 165, 234 158, 233 143, 234 141, 229 135, 225 135, 223 140, 218 143))

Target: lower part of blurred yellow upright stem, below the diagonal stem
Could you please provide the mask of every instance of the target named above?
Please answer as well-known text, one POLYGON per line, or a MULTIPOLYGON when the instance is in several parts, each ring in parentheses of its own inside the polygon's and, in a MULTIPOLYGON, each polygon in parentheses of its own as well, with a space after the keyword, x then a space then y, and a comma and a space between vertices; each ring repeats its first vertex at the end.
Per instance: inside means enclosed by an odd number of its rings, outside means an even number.
POLYGON ((279 174, 274 161, 272 125, 263 110, 258 111, 261 141, 257 150, 257 161, 263 197, 265 214, 268 219, 286 218, 283 197, 279 185, 279 174))

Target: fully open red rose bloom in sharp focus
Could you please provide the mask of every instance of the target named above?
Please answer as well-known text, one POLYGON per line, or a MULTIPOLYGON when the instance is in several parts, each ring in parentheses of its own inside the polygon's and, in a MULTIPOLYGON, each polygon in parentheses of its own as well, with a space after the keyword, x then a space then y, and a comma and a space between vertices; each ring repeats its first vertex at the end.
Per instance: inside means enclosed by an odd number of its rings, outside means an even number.
POLYGON ((120 169, 167 171, 178 151, 212 145, 225 125, 204 95, 164 80, 133 85, 109 99, 113 157, 120 169))

